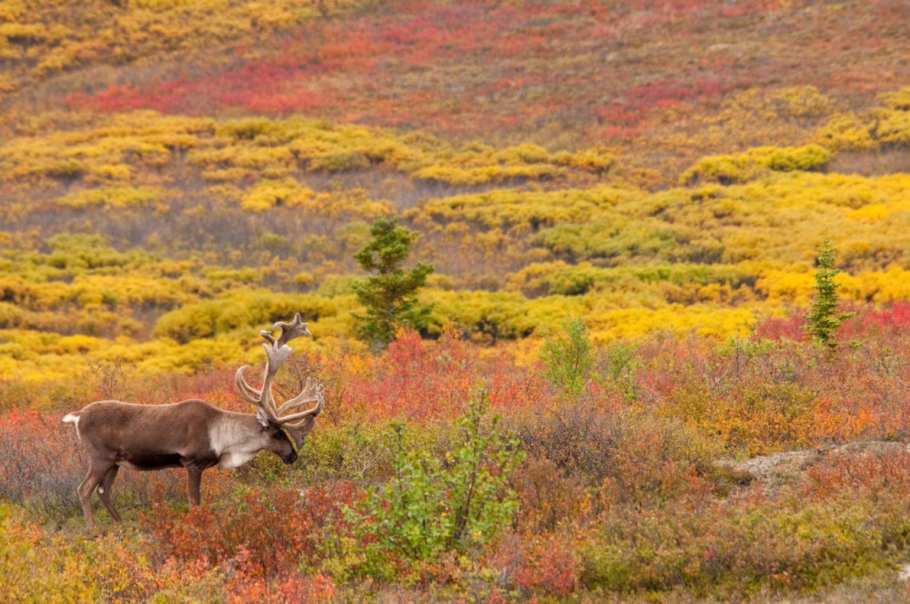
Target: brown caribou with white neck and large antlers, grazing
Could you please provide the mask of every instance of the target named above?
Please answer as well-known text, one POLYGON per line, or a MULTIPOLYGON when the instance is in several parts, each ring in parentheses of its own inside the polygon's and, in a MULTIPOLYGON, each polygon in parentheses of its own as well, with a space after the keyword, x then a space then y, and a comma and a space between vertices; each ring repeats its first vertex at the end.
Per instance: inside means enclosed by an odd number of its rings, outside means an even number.
POLYGON ((238 468, 259 451, 274 453, 286 464, 297 460, 291 438, 297 448, 303 445, 325 405, 323 387, 308 377, 300 393, 278 407, 272 382, 291 354, 288 342, 312 334, 299 313, 290 323, 279 321, 271 332, 260 333, 267 342, 262 345, 266 349, 262 388, 248 384, 244 372, 249 366, 240 367, 234 377, 240 396, 256 406, 255 414, 225 411, 192 398, 169 405, 102 400, 63 418, 76 426, 88 453, 88 474, 76 490, 90 530, 95 528, 90 498, 96 489, 111 518, 121 521, 111 502, 119 468, 186 468, 189 502, 198 505, 202 472, 207 468, 238 468), (278 329, 280 336, 275 337, 272 332, 278 329), (308 403, 316 405, 288 413, 308 403))

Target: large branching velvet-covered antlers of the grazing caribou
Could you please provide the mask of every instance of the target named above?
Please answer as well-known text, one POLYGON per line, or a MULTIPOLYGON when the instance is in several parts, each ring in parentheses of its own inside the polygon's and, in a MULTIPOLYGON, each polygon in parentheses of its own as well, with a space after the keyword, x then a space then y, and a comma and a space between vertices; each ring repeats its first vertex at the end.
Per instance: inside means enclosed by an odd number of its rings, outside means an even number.
POLYGON ((281 335, 278 337, 274 337, 269 331, 263 330, 260 332, 262 337, 268 342, 268 344, 262 345, 266 349, 266 368, 262 377, 262 388, 253 388, 248 384, 246 377, 243 375, 243 372, 249 367, 248 365, 237 370, 234 382, 237 384, 240 396, 259 408, 261 419, 287 429, 299 445, 303 440, 302 437, 312 429, 313 420, 322 413, 322 408, 325 405, 325 396, 322 385, 312 377, 308 377, 306 386, 304 386, 300 394, 285 401, 280 408, 276 408, 275 398, 272 396, 272 382, 278 374, 278 369, 284 365, 284 362, 290 356, 291 349, 288 347, 288 342, 295 337, 312 335, 309 333, 307 324, 300 321, 300 313, 297 313, 294 316, 294 320, 290 323, 278 321, 272 326, 272 331, 278 328, 281 329, 281 335), (314 408, 284 417, 281 416, 282 413, 289 409, 298 408, 301 405, 313 402, 316 403, 314 408), (300 434, 303 430, 306 430, 306 432, 300 434))

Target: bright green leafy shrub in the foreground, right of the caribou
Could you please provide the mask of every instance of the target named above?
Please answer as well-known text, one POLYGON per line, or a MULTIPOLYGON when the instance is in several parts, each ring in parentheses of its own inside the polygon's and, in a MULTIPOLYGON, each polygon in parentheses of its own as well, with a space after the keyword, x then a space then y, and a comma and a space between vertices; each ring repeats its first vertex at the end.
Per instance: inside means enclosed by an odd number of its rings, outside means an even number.
POLYGON ((394 427, 393 476, 346 509, 366 544, 363 573, 394 580, 389 562, 399 559, 406 572, 400 579, 408 582, 450 552, 479 549, 509 525, 518 510, 509 478, 524 454, 498 418, 488 418, 488 405, 484 396, 474 399, 443 459, 410 448, 405 427, 394 427))

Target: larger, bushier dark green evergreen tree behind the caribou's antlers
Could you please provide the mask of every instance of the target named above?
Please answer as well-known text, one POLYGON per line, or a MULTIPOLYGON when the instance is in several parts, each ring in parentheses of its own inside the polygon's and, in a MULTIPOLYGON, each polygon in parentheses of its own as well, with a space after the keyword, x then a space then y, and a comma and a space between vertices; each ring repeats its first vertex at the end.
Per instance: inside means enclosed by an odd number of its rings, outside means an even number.
POLYGON ((372 240, 354 259, 375 275, 354 284, 354 293, 366 313, 352 314, 359 320, 358 335, 370 345, 384 349, 399 327, 426 327, 432 305, 420 305, 415 294, 434 268, 423 262, 409 270, 401 268, 410 255, 411 244, 420 234, 399 227, 398 218, 377 218, 369 233, 372 240))

